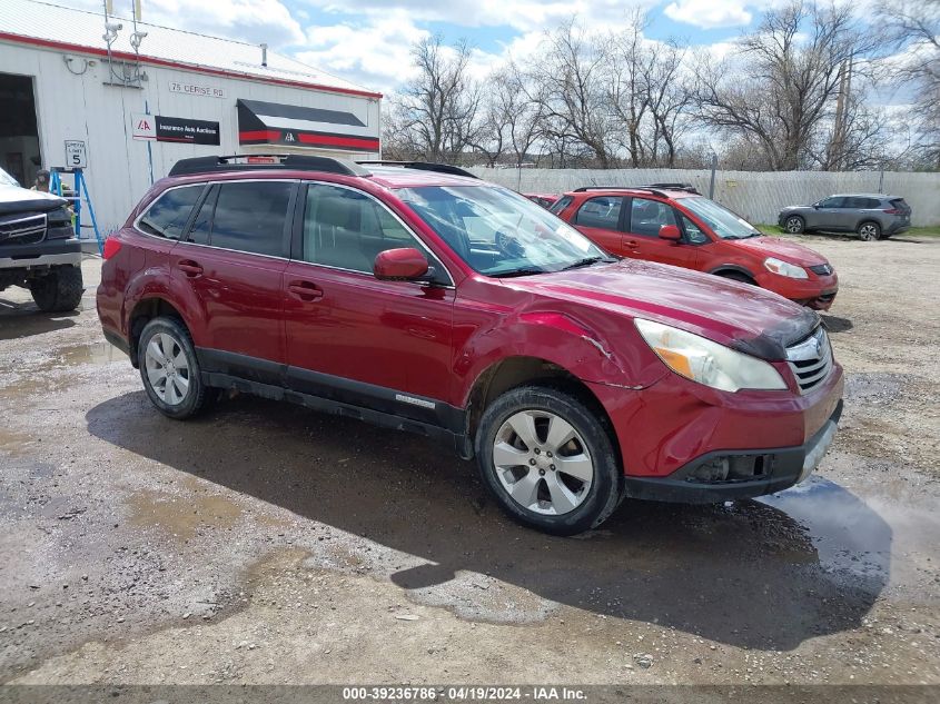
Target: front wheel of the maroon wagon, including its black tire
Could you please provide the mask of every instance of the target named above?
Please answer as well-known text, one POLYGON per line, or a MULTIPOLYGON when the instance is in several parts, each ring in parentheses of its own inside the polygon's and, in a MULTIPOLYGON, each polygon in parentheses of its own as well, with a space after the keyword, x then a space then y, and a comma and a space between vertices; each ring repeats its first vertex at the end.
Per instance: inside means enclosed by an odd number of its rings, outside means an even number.
POLYGON ((575 535, 601 525, 623 497, 611 434, 597 412, 567 390, 506 391, 483 414, 475 442, 483 483, 530 528, 575 535))

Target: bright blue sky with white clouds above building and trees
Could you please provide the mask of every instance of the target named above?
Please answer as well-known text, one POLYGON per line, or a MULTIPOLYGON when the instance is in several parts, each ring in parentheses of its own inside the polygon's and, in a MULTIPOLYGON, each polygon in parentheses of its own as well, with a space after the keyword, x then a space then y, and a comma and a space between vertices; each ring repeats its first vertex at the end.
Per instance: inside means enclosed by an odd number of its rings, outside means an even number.
MULTIPOLYGON (((102 0, 51 0, 98 10, 102 0)), ((615 28, 629 10, 646 8, 652 39, 724 44, 753 28, 766 7, 782 0, 144 0, 144 20, 250 42, 389 92, 407 78, 408 49, 441 32, 468 39, 474 68, 521 56, 546 29, 576 13, 586 27, 615 28)), ((113 0, 129 16, 132 0, 113 0)))

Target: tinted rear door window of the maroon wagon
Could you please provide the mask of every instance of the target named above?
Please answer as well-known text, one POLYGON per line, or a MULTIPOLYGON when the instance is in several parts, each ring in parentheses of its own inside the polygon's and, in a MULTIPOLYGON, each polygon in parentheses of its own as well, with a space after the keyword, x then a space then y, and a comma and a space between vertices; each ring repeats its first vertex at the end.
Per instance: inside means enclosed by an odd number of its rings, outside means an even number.
MULTIPOLYGON (((294 184, 244 181, 219 186, 209 244, 212 247, 284 257, 285 225, 294 184)), ((200 211, 200 218, 201 218, 200 211)))

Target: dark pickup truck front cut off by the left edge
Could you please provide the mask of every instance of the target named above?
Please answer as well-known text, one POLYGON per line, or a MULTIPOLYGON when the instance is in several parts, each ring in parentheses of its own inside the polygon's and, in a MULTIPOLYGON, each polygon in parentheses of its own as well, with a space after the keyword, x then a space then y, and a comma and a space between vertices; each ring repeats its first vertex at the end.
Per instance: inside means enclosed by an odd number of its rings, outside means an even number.
POLYGON ((66 311, 81 301, 81 242, 68 202, 21 188, 0 169, 0 291, 22 286, 40 310, 66 311))

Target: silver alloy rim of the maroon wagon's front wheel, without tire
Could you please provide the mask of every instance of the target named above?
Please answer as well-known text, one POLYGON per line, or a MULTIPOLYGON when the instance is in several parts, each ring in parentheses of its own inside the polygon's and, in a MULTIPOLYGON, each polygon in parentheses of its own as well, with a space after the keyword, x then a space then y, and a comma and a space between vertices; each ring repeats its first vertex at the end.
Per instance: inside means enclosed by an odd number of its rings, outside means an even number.
POLYGON ((594 482, 594 463, 581 434, 543 410, 522 410, 503 423, 493 443, 493 464, 513 500, 544 515, 571 513, 594 482))

